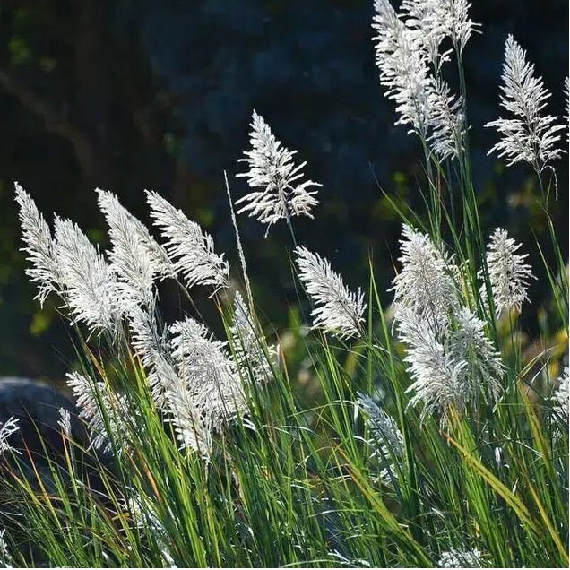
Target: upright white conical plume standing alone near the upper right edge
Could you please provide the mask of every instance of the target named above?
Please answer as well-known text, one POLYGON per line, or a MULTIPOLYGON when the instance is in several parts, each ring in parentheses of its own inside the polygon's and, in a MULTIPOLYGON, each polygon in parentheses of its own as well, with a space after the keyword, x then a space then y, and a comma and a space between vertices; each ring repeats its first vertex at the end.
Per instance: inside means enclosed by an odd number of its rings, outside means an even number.
POLYGON ((498 118, 486 125, 502 135, 488 153, 497 151, 500 157, 505 156, 508 166, 529 162, 540 173, 562 154, 555 143, 560 140, 557 133, 566 127, 555 124, 557 117, 543 114, 550 92, 542 78, 535 76, 534 65, 527 62, 526 51, 512 35, 506 39, 502 78, 501 107, 514 118, 498 118))

